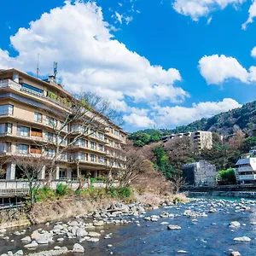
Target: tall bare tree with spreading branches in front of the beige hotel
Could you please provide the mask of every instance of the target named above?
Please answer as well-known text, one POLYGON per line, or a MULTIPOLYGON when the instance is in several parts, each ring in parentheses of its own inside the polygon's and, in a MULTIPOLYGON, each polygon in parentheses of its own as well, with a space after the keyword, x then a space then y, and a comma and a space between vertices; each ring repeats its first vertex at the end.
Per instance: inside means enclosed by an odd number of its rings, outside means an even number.
MULTIPOLYGON (((53 178, 57 163, 67 157, 67 153, 76 143, 80 140, 83 143, 88 137, 96 137, 96 131, 104 133, 113 122, 120 125, 120 113, 96 94, 83 93, 65 99, 70 106, 67 111, 45 113, 50 131, 48 142, 44 143, 43 147, 46 152, 49 148, 53 150, 47 173, 48 184, 53 178)), ((78 163, 79 168, 79 158, 73 156, 73 161, 78 163)))

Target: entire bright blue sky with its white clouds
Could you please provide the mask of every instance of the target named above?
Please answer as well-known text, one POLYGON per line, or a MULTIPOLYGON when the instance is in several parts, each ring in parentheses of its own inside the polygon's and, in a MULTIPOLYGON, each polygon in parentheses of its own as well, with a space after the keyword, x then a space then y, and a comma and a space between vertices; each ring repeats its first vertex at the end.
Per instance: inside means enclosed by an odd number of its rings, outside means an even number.
POLYGON ((0 69, 57 79, 119 109, 126 131, 172 129, 256 100, 256 1, 14 0, 0 69))

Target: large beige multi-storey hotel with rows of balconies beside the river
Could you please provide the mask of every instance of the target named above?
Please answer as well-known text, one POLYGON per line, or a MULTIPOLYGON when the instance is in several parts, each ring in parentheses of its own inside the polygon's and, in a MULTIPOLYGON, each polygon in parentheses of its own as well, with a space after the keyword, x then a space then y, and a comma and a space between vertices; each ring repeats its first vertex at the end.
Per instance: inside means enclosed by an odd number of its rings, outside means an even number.
MULTIPOLYGON (((55 84, 52 79, 43 81, 16 69, 0 70, 0 154, 6 159, 11 155, 41 154, 52 159, 55 148, 49 142, 56 136, 52 124, 61 127, 64 119, 56 119, 51 113, 73 114, 68 104, 68 99, 72 98, 61 84, 55 84), (43 152, 38 147, 40 143, 49 143, 49 148, 43 152)), ((90 116, 90 113, 87 114, 90 116)), ((78 120, 61 131, 57 139, 61 140, 63 148, 70 140, 75 140, 76 134, 82 133, 83 136, 61 155, 55 179, 73 179, 89 174, 91 177, 102 176, 110 168, 118 169, 120 159, 123 160, 122 166, 125 166, 125 157, 120 154, 120 149, 127 141, 127 133, 100 114, 95 122, 98 128, 91 128, 90 132, 84 131, 83 124, 78 120)), ((11 161, 7 161, 4 167, 6 179, 20 177, 11 161)), ((45 172, 38 178, 44 179, 45 172)))

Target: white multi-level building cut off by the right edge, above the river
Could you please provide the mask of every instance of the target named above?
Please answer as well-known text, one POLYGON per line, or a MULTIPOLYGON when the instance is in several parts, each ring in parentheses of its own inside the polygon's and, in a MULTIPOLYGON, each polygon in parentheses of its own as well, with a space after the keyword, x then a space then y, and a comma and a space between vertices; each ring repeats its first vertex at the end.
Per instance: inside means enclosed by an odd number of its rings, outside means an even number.
POLYGON ((248 154, 242 154, 236 162, 236 178, 238 183, 256 183, 256 148, 248 154))

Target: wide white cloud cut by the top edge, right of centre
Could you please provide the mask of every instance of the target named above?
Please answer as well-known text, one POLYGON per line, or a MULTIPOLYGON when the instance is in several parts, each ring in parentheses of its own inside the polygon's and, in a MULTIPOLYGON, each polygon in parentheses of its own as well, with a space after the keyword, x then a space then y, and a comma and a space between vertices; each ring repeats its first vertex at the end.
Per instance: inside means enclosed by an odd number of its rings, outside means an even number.
POLYGON ((215 10, 224 9, 229 4, 236 5, 246 2, 247 0, 175 0, 172 3, 173 9, 177 13, 190 16, 192 20, 198 20, 203 16, 208 16, 215 10))

